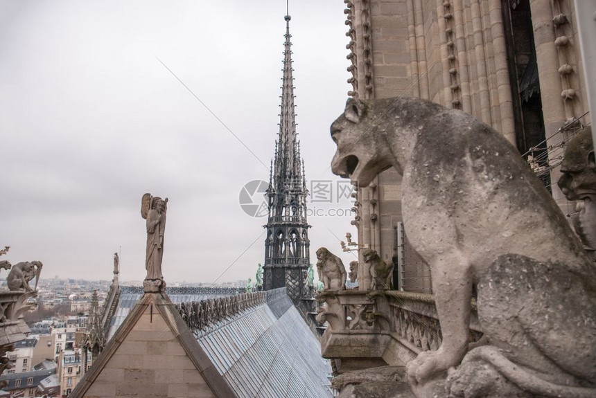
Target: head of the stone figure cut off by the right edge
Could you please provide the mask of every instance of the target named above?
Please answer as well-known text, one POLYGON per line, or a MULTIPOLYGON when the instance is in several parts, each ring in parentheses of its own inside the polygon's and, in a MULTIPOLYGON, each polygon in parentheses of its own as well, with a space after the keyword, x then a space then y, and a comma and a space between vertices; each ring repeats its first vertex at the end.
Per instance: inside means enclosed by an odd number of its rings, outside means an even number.
POLYGON ((590 127, 584 127, 569 141, 561 173, 557 184, 568 200, 596 195, 596 162, 590 127))

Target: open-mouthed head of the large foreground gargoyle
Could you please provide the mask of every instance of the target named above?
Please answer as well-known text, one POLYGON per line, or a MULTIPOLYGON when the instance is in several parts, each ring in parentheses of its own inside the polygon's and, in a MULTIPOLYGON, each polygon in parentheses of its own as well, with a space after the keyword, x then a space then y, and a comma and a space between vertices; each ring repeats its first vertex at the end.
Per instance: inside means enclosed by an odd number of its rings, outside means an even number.
POLYGON ((331 161, 333 174, 358 181, 365 187, 392 166, 392 156, 376 124, 373 100, 350 98, 344 114, 331 125, 331 138, 338 150, 331 161))

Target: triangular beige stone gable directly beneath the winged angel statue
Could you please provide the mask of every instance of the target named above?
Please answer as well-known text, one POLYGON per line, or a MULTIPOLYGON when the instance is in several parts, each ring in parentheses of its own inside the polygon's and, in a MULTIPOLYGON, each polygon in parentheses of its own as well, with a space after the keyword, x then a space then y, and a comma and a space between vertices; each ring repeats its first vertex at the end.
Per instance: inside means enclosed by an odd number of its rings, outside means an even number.
POLYGON ((69 397, 234 397, 166 294, 146 293, 69 397))

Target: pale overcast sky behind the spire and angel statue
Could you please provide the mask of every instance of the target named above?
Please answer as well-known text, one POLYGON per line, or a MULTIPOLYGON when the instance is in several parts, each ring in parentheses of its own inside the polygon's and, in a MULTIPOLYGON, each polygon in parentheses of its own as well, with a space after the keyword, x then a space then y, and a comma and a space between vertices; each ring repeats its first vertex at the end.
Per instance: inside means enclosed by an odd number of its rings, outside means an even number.
MULTIPOLYGON (((333 203, 310 203, 318 211, 351 208, 328 169, 329 125, 350 89, 343 10, 290 3, 306 177, 333 181, 333 203)), ((285 14, 284 0, 0 0, 2 258, 41 260, 42 278, 111 279, 121 250, 121 280, 142 280, 150 192, 169 198, 166 282, 254 278, 266 218, 238 197, 268 181, 285 14)), ((309 218, 311 262, 320 246, 340 255, 352 218, 309 218)))

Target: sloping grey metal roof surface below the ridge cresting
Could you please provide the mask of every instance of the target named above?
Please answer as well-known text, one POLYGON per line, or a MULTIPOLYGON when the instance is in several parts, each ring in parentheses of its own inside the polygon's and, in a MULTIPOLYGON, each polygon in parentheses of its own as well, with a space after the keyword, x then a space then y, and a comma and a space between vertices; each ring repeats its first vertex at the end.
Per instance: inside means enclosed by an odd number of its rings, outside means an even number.
POLYGON ((331 365, 286 294, 195 336, 238 398, 332 397, 331 365))

